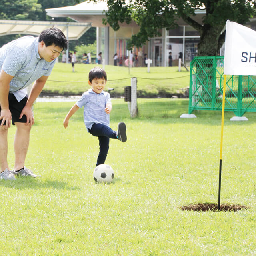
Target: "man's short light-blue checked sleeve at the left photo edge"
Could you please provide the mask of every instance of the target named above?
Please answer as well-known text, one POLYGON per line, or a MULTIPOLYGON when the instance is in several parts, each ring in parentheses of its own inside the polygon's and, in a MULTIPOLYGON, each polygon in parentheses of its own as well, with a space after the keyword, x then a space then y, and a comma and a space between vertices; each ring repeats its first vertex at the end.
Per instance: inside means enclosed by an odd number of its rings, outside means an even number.
POLYGON ((15 76, 15 74, 22 68, 26 61, 26 56, 22 49, 14 47, 9 50, 6 54, 6 58, 2 65, 2 70, 9 74, 10 76, 15 76))

